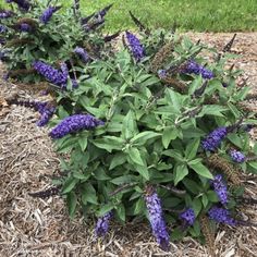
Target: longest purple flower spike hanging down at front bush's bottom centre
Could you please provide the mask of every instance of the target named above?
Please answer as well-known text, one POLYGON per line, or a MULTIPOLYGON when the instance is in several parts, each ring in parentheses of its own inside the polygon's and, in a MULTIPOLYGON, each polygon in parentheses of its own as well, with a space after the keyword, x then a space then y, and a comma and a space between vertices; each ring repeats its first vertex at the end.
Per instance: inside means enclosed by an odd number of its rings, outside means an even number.
POLYGON ((166 228, 166 221, 163 219, 160 198, 157 193, 147 195, 145 197, 146 206, 149 215, 149 221, 151 224, 152 233, 157 243, 164 250, 169 249, 169 234, 166 228))

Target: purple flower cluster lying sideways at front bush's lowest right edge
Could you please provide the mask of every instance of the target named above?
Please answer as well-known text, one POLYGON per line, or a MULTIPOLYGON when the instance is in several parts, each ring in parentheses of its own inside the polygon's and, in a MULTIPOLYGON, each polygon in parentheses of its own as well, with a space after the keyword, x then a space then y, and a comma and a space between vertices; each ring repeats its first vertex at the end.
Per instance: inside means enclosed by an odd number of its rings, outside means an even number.
POLYGON ((236 225, 237 222, 230 216, 230 211, 224 208, 219 208, 217 206, 209 209, 208 215, 210 219, 218 223, 224 223, 229 225, 236 225))

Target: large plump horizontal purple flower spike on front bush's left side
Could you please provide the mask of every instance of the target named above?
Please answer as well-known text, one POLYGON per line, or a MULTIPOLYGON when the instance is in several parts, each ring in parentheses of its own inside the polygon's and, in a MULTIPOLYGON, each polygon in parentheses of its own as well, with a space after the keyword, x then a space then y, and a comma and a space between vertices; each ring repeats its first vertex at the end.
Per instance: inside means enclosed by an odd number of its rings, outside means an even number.
POLYGON ((103 124, 105 122, 90 114, 74 114, 62 120, 61 123, 52 128, 49 135, 57 139, 70 133, 75 133, 82 130, 91 130, 103 124))

